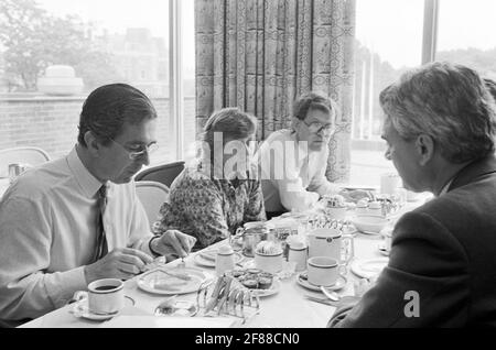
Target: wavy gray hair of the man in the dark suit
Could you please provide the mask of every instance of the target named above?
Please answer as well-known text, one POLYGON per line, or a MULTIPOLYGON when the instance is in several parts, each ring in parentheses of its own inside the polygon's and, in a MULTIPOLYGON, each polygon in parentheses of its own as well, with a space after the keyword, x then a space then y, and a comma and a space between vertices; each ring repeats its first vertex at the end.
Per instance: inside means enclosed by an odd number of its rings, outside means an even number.
POLYGON ((495 151, 494 100, 468 67, 435 62, 412 69, 379 99, 401 138, 428 134, 450 162, 475 161, 495 151))

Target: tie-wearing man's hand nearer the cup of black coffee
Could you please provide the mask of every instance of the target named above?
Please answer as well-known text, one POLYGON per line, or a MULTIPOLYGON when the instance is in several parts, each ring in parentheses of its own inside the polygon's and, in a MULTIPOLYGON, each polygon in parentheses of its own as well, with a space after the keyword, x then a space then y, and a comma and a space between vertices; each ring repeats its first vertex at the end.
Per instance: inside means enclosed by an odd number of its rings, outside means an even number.
POLYGON ((144 265, 153 262, 147 253, 132 249, 115 249, 97 262, 85 266, 87 283, 100 278, 128 280, 144 271, 144 265))

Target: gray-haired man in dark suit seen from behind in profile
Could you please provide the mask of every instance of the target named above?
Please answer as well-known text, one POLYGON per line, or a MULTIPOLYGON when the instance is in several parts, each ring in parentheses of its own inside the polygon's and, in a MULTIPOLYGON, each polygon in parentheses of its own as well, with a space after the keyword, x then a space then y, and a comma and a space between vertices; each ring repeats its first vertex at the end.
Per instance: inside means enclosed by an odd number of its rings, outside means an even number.
POLYGON ((435 198, 405 215, 388 266, 330 327, 496 326, 496 106, 474 70, 433 63, 380 95, 403 181, 435 198))

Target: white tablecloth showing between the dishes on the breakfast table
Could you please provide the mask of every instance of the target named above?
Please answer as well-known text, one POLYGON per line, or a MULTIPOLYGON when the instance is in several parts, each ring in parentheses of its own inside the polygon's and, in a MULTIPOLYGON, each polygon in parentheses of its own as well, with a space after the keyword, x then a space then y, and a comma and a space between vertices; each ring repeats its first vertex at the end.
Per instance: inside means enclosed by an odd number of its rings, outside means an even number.
MULTIPOLYGON (((409 204, 403 211, 410 210, 423 203, 421 201, 409 204)), ((357 233, 355 237, 355 258, 356 259, 377 259, 382 258, 378 245, 381 242, 379 236, 370 236, 357 233)), ((194 254, 191 254, 186 260, 187 266, 197 266, 193 261, 194 254)), ((179 263, 172 262, 170 265, 179 263)), ((214 269, 201 267, 205 271, 215 274, 214 269)), ((141 291, 137 286, 137 278, 129 280, 125 283, 126 295, 136 300, 133 307, 126 307, 122 316, 137 315, 145 316, 153 315, 157 306, 166 298, 164 295, 153 295, 141 291)), ((348 281, 345 288, 339 291, 339 295, 353 295, 354 282, 357 281, 352 272, 348 273, 348 281)), ((278 328, 315 328, 325 327, 328 319, 333 315, 335 308, 333 306, 319 304, 304 298, 304 295, 313 295, 324 297, 320 292, 305 289, 296 283, 296 274, 289 280, 281 281, 279 293, 260 298, 260 313, 252 317, 242 327, 278 327, 278 328)), ((184 299, 195 299, 196 293, 180 296, 184 299)), ((34 319, 22 327, 105 327, 107 321, 97 322, 84 318, 76 318, 71 313, 72 306, 65 306, 61 309, 52 311, 43 317, 34 319)), ((132 320, 133 318, 127 318, 132 320)), ((137 318, 138 319, 138 318, 137 318)), ((177 325, 181 325, 181 317, 177 317, 177 325)), ((131 321, 127 327, 134 327, 131 321)), ((237 325, 240 326, 240 325, 237 325)), ((184 325, 187 327, 187 325, 184 325)), ((214 326, 215 327, 215 326, 214 326)))

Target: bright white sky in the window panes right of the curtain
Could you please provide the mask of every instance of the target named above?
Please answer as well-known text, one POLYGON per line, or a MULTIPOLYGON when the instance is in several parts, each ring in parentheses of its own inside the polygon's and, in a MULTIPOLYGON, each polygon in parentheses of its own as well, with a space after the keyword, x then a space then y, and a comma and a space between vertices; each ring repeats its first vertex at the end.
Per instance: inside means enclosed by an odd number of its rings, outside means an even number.
MULTIPOLYGON (((395 68, 421 63, 424 0, 357 0, 356 36, 395 68)), ((441 0, 438 51, 496 47, 495 0, 441 0)))

